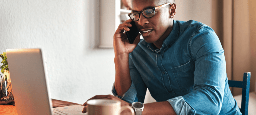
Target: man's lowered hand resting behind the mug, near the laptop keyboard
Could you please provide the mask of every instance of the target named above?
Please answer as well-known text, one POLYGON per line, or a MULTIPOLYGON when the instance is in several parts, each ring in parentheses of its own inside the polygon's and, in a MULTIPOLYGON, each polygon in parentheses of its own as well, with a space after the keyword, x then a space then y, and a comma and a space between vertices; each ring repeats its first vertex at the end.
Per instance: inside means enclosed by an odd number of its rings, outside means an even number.
MULTIPOLYGON (((96 95, 88 100, 91 100, 91 99, 111 99, 111 100, 118 100, 118 101, 121 101, 121 106, 125 106, 125 105, 129 105, 131 106, 132 104, 131 103, 128 103, 122 99, 119 99, 118 97, 115 97, 113 95, 96 95)), ((88 101, 87 100, 87 101, 88 101)), ((86 108, 88 107, 88 104, 87 104, 87 101, 84 103, 84 109, 82 111, 82 113, 86 113, 86 108)))

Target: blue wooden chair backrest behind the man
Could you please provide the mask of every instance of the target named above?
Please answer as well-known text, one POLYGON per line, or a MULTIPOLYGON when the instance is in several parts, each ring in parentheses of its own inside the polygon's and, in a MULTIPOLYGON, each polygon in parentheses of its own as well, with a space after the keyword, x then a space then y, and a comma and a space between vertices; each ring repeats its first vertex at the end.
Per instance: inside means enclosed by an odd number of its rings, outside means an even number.
POLYGON ((248 102, 250 90, 251 72, 244 72, 243 81, 228 80, 229 87, 242 88, 242 103, 240 111, 243 115, 248 115, 248 102))

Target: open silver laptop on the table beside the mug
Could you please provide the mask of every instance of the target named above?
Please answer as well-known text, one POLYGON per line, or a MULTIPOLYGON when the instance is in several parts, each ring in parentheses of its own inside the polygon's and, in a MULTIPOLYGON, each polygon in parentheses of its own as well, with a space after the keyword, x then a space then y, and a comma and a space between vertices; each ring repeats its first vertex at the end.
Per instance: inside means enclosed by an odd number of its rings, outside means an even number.
POLYGON ((15 106, 19 115, 87 114, 82 113, 84 106, 81 105, 52 108, 40 49, 7 49, 6 56, 15 106))

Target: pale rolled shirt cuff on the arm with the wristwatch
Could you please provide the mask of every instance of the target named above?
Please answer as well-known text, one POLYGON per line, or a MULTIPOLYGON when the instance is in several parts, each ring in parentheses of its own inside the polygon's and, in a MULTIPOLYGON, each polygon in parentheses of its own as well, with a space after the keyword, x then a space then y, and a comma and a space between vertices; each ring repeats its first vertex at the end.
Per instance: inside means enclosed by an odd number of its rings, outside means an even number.
POLYGON ((196 112, 182 96, 167 100, 177 115, 194 115, 196 112))

